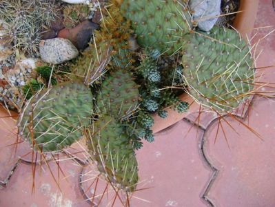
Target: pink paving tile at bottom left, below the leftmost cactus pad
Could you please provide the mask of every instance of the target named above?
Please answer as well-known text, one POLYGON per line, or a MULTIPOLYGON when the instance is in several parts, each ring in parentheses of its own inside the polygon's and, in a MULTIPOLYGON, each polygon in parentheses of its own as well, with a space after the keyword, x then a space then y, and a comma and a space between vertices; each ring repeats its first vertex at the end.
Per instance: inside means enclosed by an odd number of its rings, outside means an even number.
POLYGON ((59 166, 65 175, 58 170, 56 162, 50 161, 49 166, 60 183, 61 191, 49 168, 43 165, 36 168, 35 188, 32 193, 32 165, 21 162, 8 186, 0 190, 0 206, 90 206, 79 188, 81 166, 72 159, 61 159, 59 166))

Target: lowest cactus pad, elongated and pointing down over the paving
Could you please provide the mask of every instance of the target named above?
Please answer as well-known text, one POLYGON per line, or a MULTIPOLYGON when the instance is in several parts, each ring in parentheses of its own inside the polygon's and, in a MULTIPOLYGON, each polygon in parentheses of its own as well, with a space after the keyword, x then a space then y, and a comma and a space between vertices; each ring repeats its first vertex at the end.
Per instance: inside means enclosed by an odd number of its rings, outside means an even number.
POLYGON ((105 115, 87 132, 87 144, 99 171, 116 188, 132 191, 139 180, 138 164, 130 140, 114 118, 105 115))

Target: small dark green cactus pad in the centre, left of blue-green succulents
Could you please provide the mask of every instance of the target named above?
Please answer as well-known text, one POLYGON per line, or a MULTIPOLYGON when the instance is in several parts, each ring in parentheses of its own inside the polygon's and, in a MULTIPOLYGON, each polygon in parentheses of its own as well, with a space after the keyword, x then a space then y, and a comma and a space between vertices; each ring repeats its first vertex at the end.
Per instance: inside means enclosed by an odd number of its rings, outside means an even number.
POLYGON ((130 72, 117 70, 102 83, 96 97, 100 112, 110 112, 115 118, 128 117, 139 106, 139 89, 130 72))

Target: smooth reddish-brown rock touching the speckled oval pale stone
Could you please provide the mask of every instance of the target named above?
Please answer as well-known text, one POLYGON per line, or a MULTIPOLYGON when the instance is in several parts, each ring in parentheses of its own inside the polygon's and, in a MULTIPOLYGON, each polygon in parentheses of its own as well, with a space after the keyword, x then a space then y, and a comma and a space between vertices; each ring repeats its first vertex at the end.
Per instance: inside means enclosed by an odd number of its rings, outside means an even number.
POLYGON ((96 23, 85 20, 72 29, 65 28, 61 30, 57 37, 69 39, 77 49, 84 50, 88 46, 92 33, 97 28, 99 26, 96 23))

